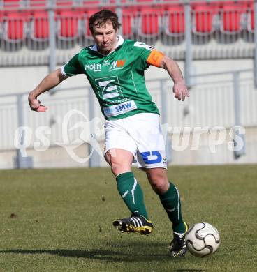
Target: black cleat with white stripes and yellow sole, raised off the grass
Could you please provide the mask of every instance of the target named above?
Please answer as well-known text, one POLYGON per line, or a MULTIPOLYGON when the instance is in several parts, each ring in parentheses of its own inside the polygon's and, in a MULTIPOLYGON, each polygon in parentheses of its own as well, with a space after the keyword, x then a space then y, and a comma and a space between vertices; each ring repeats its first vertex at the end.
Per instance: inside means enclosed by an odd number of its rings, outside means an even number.
POLYGON ((139 232, 143 235, 150 234, 154 228, 152 222, 139 213, 132 213, 128 218, 117 219, 113 225, 121 232, 139 232))

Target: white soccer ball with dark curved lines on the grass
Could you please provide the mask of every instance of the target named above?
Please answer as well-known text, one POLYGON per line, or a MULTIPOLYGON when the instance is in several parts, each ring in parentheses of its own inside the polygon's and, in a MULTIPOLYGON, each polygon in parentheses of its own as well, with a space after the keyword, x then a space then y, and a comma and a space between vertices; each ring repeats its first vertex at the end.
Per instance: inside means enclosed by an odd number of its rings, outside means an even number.
POLYGON ((185 241, 186 247, 196 257, 212 255, 221 243, 218 230, 205 222, 189 227, 185 241))

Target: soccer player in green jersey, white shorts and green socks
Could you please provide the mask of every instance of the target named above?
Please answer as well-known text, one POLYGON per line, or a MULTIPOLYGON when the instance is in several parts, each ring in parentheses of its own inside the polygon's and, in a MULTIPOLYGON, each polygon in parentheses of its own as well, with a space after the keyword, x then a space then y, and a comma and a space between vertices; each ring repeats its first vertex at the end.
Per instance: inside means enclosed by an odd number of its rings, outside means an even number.
POLYGON ((133 160, 145 171, 154 192, 172 222, 172 257, 186 253, 184 235, 188 225, 182 219, 179 191, 168 181, 165 144, 161 135, 159 110, 145 86, 144 71, 150 66, 164 68, 174 82, 175 98, 189 96, 177 63, 153 47, 118 35, 118 17, 101 10, 89 18, 94 45, 83 48, 61 68, 47 75, 29 93, 29 105, 45 112, 38 96, 73 75, 85 74, 105 116, 105 160, 117 181, 117 189, 131 211, 128 218, 113 225, 122 232, 150 234, 153 230, 140 184, 131 172, 133 160))

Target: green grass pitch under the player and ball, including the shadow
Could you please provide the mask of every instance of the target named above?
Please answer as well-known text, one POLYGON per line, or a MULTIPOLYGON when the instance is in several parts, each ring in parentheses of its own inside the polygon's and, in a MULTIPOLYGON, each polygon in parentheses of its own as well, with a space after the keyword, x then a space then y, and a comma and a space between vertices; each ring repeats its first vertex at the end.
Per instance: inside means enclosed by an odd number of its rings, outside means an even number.
POLYGON ((110 169, 1 171, 0 271, 256 271, 256 165, 168 168, 186 221, 221 234, 203 259, 168 256, 170 222, 145 173, 135 176, 154 222, 149 236, 112 227, 129 213, 110 169))

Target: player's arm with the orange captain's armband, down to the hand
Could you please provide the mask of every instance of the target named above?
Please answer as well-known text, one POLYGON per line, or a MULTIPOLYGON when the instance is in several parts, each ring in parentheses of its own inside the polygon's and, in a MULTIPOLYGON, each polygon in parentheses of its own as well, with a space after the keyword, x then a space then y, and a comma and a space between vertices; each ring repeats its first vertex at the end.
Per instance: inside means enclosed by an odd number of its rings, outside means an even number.
POLYGON ((174 82, 173 93, 177 100, 184 101, 186 96, 189 97, 189 91, 176 61, 157 50, 153 50, 147 58, 147 63, 167 70, 174 82))

